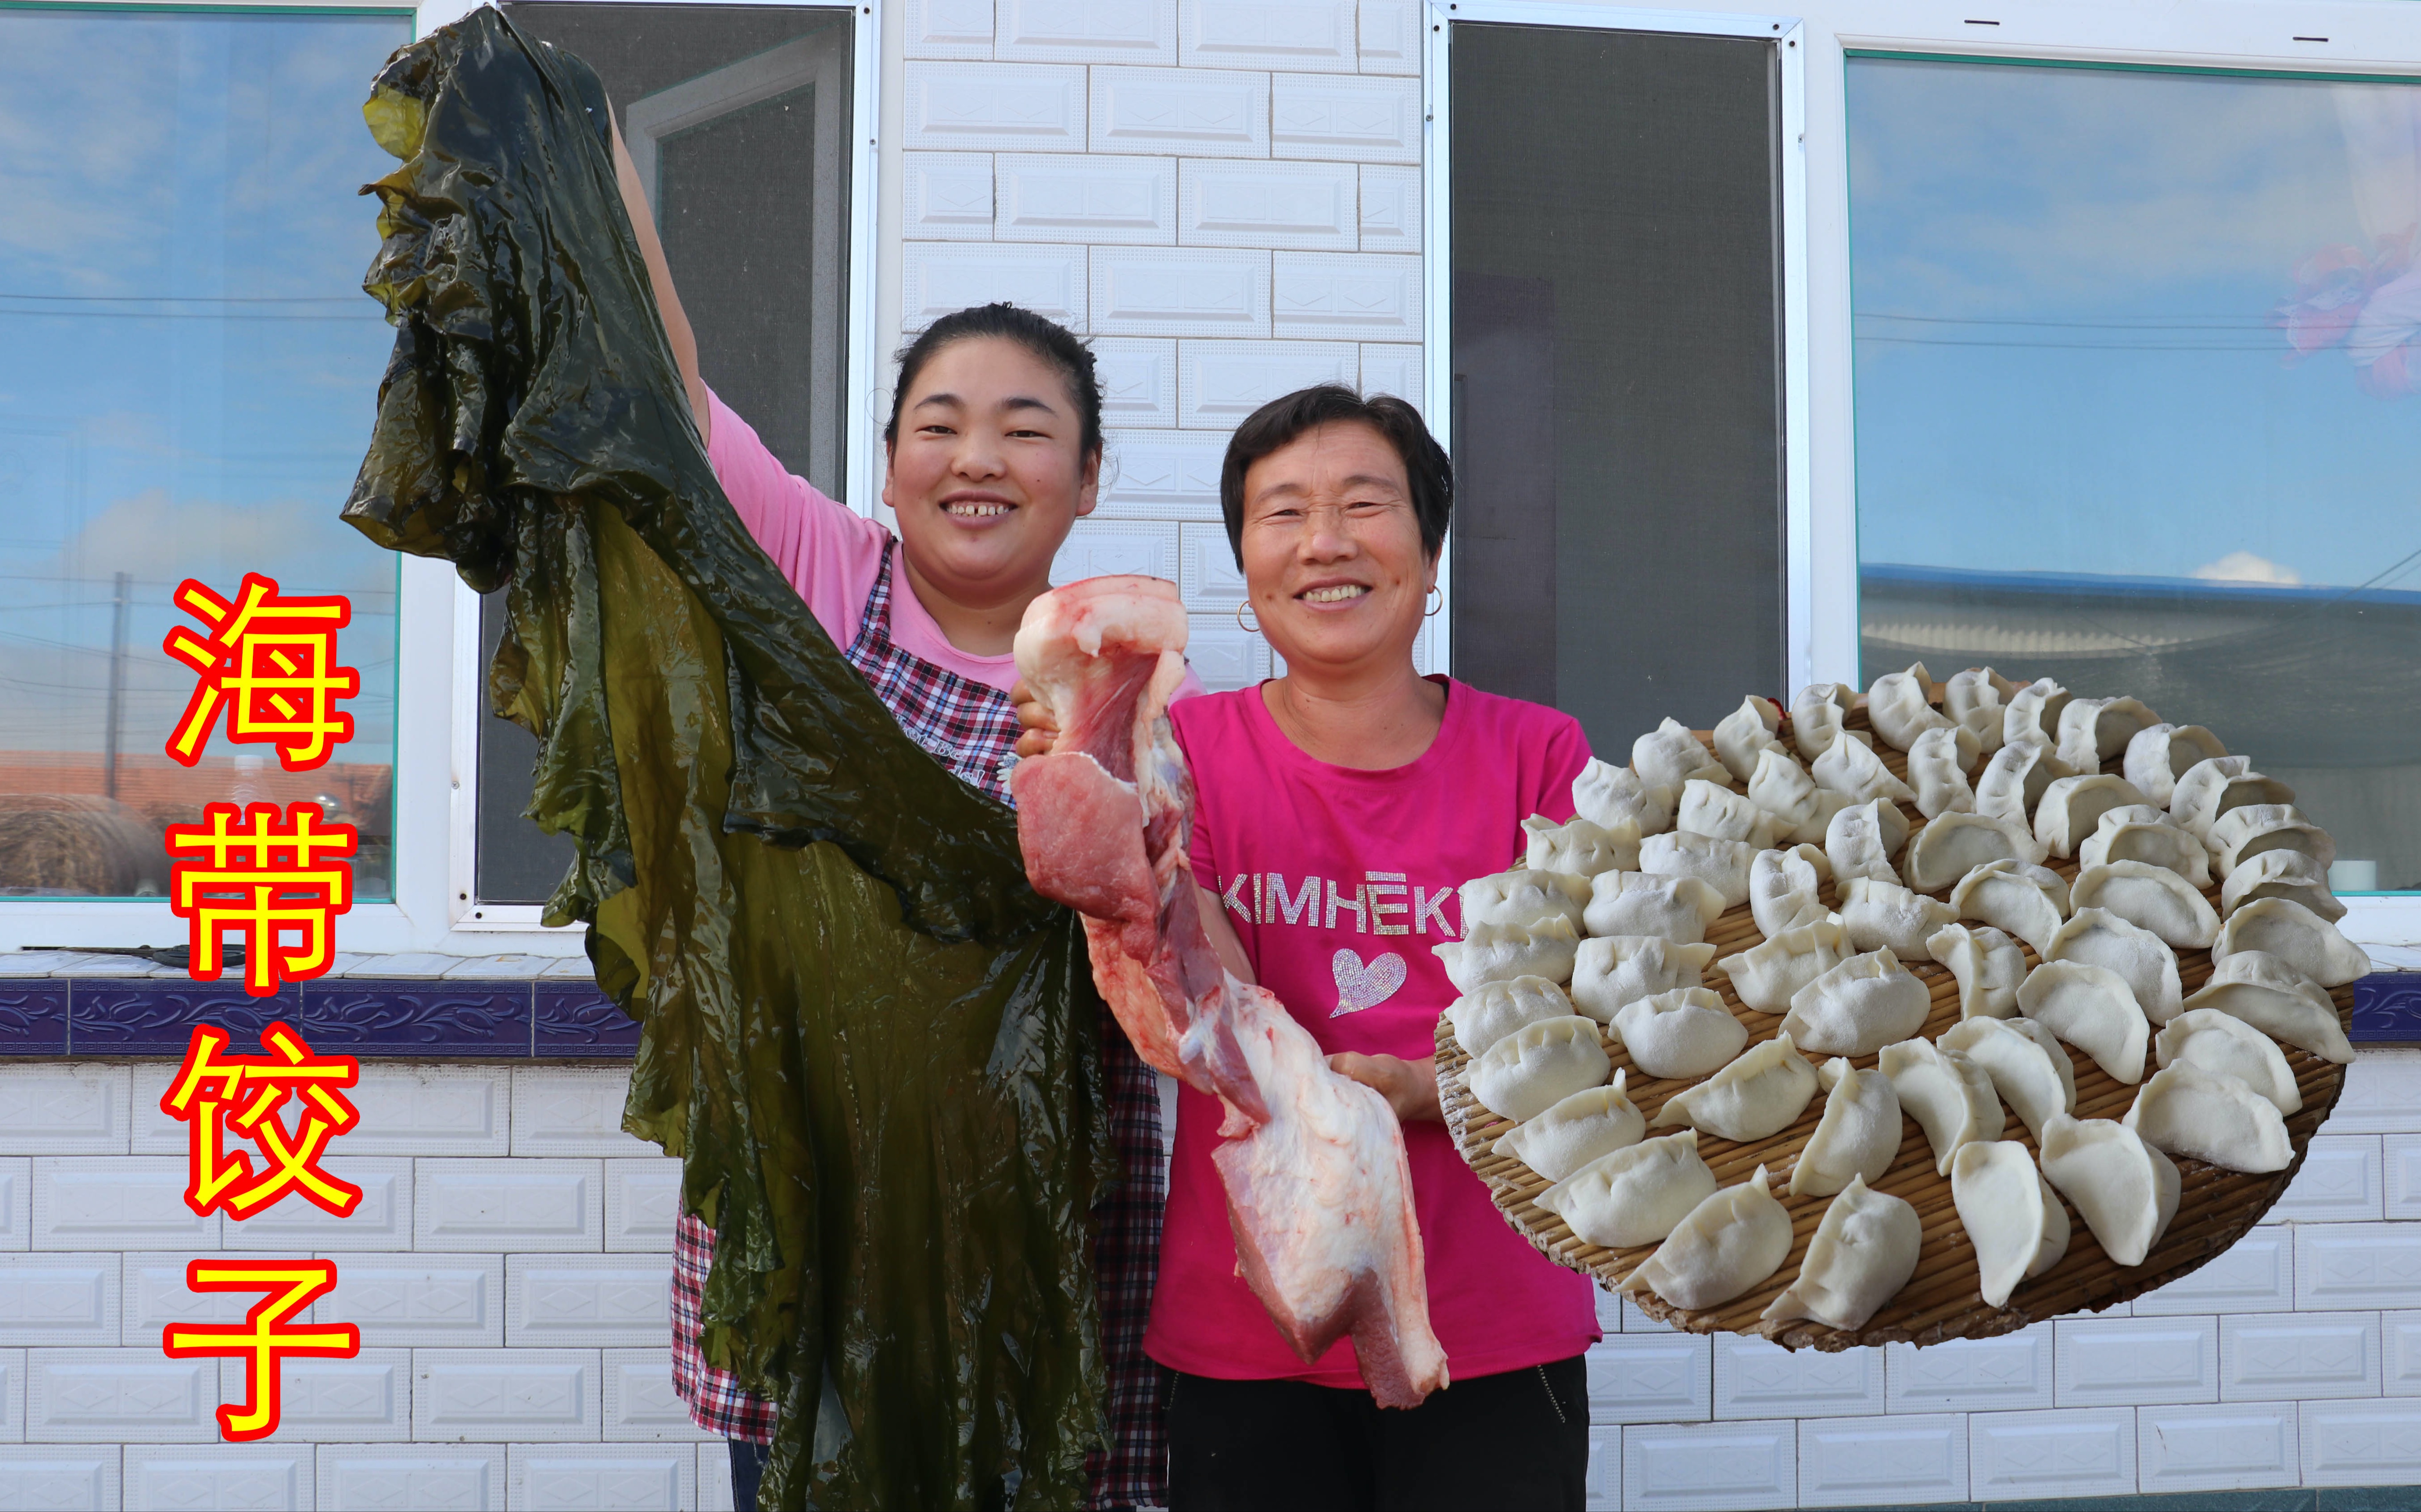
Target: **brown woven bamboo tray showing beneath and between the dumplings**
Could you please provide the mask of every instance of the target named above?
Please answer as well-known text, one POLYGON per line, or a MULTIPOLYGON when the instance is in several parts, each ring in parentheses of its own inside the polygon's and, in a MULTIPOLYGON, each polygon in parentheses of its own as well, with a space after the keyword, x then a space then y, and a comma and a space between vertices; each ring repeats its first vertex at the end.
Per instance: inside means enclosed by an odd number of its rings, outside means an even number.
MULTIPOLYGON (((1852 731, 1869 728, 1864 702, 1845 723, 1852 731)), ((1704 733, 1700 740, 1704 740, 1704 733)), ((1881 740, 1876 740, 1876 752, 1896 777, 1905 777, 1908 757, 1891 750, 1881 740)), ((2116 772, 2118 762, 2106 762, 2104 769, 2116 772)), ((1908 813, 1910 832, 1925 827, 1925 820, 1913 806, 1903 803, 1900 808, 1908 813)), ((2060 876, 2075 881, 2075 861, 2051 861, 2051 866, 2060 871, 2060 876)), ((2206 895, 2210 898, 2210 905, 2218 907, 2218 883, 2213 883, 2206 895)), ((1934 893, 1932 898, 1946 898, 1946 890, 1934 893)), ((1823 902, 1828 907, 1838 907, 1830 881, 1823 885, 1823 902)), ((1707 929, 1707 941, 1716 948, 1716 960, 1736 951, 1746 951, 1762 939, 1765 936, 1758 934, 1755 922, 1748 917, 1746 902, 1724 912, 1724 917, 1707 929)), ((2019 948, 2026 953, 2026 968, 2031 970, 2038 963, 2034 946, 2019 941, 2019 948)), ((1934 965, 1932 960, 1903 960, 1903 965, 1932 987, 1932 1016, 1925 1021, 1920 1033, 1925 1038, 1937 1038, 1942 1031, 1959 1023, 1959 982, 1951 977, 1949 968, 1934 965)), ((2191 997, 2206 980, 2210 980, 2210 951, 2179 951, 2176 973, 2191 997)), ((1775 1038, 1782 1028, 1779 1014, 1758 1014, 1743 1006, 1738 994, 1731 989, 1731 980, 1712 965, 1707 968, 1707 987, 1719 992, 1724 997, 1724 1006, 1748 1026, 1750 1045, 1775 1038)), ((2353 987, 2336 987, 2329 997, 2336 1002, 2339 1021, 2351 1026, 2353 987)), ((1651 1123, 1666 1098, 1695 1084, 1692 1079, 1673 1081, 1641 1077, 1639 1067, 1632 1064, 1629 1052, 1612 1035, 1603 1035, 1603 1040, 1615 1067, 1624 1069, 1629 1077, 1624 1091, 1639 1113, 1651 1123)), ((1564 1227, 1564 1219, 1535 1207, 1532 1198, 1547 1190, 1549 1183, 1545 1176, 1530 1171, 1530 1166, 1516 1161, 1513 1156, 1491 1154, 1496 1137, 1513 1125, 1511 1120, 1489 1113, 1477 1098, 1472 1098, 1465 1079, 1470 1057, 1455 1043, 1455 1028, 1445 1021, 1445 1016, 1438 1018, 1436 1043, 1438 1096, 1445 1108, 1445 1127, 1453 1132, 1462 1159, 1470 1161, 1472 1171, 1477 1171, 1489 1185, 1499 1212, 1503 1212, 1506 1222, 1513 1224, 1513 1231, 1528 1239, 1549 1260, 1588 1272, 1605 1287, 1615 1287, 1629 1277, 1641 1260, 1656 1253, 1654 1243, 1637 1248, 1603 1248, 1583 1243, 1569 1227, 1564 1227)), ((2176 1173, 2181 1178, 2176 1219, 2169 1224, 2169 1231, 2162 1234, 2160 1243, 2152 1246, 2152 1253, 2145 1256, 2143 1265, 2116 1265, 2101 1251, 2092 1229, 2084 1227, 2084 1217, 2077 1207, 2068 1202, 2070 1241, 2060 1263, 2034 1280, 2019 1282, 2017 1292, 2009 1294, 2009 1306, 1985 1306, 1976 1272, 1976 1246, 1968 1243, 1966 1229, 1959 1224, 1959 1212, 1951 1207, 1951 1178, 1934 1176, 1934 1147, 1925 1139, 1925 1130, 1917 1127, 1917 1120, 1903 1113, 1900 1154, 1891 1161, 1884 1178, 1871 1183, 1871 1188, 1903 1198, 1917 1210, 1917 1219, 1925 1224, 1917 1272, 1908 1277, 1908 1285, 1900 1287, 1900 1292, 1854 1333, 1845 1328, 1825 1328, 1823 1323, 1806 1318, 1777 1326, 1760 1323, 1758 1314, 1762 1314, 1765 1306, 1799 1277, 1799 1263, 1806 1258, 1808 1241, 1816 1236, 1816 1224, 1833 1202, 1833 1198, 1792 1198, 1784 1190, 1792 1164, 1799 1159, 1808 1135, 1816 1132, 1816 1123, 1823 1118, 1825 1093, 1818 1091, 1799 1115, 1799 1123, 1779 1135, 1753 1144, 1736 1144, 1704 1132, 1697 1139, 1700 1156, 1721 1185, 1748 1181, 1758 1166, 1767 1168, 1775 1198, 1792 1214, 1792 1253, 1782 1260, 1782 1268, 1748 1294, 1716 1309, 1680 1309, 1646 1289, 1634 1292, 1632 1299, 1651 1318, 1661 1318, 1687 1333, 1760 1333, 1789 1350, 1850 1350, 1857 1345, 1881 1343, 1932 1345, 1951 1338, 1990 1338, 1995 1333, 2012 1333, 2041 1318, 2099 1311, 2104 1306, 2128 1302, 2130 1297, 2162 1287, 2189 1270, 2201 1268, 2206 1260, 2235 1243, 2237 1236, 2261 1222, 2268 1205, 2285 1193, 2295 1171, 2302 1168, 2302 1156, 2312 1144, 2312 1132, 2324 1118, 2329 1118, 2329 1110, 2336 1106, 2336 1096, 2346 1086, 2346 1067, 2327 1062, 2307 1050, 2295 1050, 2293 1045, 2278 1045, 2278 1050, 2285 1052, 2288 1067, 2295 1072, 2295 1086, 2302 1089, 2302 1110, 2285 1120, 2288 1137, 2295 1142, 2295 1161, 2285 1171, 2244 1176, 2239 1171, 2222 1171, 2203 1161, 2174 1156, 2176 1173)), ((1828 1057, 1811 1055, 1808 1060, 1816 1064, 1828 1057)), ((2082 1050, 2072 1050, 2070 1060, 2077 1072, 2077 1118, 2126 1118, 2138 1089, 2116 1081, 2082 1050)), ((2150 1060, 2147 1050, 2147 1067, 2150 1060)), ((1850 1062, 1859 1069, 1874 1069, 1876 1057, 1854 1055, 1850 1062)), ((2005 1125, 2000 1137, 2024 1142, 2026 1152, 2041 1161, 2041 1149, 2026 1132, 2026 1125, 2007 1108, 2002 1108, 2002 1118, 2005 1125)), ((1678 1132, 1678 1125, 1668 1130, 1649 1130, 1649 1137, 1670 1132, 1678 1132)))

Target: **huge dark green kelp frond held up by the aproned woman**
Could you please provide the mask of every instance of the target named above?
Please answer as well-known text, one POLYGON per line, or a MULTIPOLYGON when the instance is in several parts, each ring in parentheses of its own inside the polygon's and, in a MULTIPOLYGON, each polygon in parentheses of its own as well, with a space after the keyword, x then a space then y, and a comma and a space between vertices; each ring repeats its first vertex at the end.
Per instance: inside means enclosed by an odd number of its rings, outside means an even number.
POLYGON ((1073 1507, 1114 1168, 1073 914, 915 748, 707 467, 605 97, 494 10, 366 116, 397 324, 346 518, 508 585, 496 711, 639 1021, 625 1127, 717 1227, 707 1355, 782 1406, 765 1507, 1073 1507))

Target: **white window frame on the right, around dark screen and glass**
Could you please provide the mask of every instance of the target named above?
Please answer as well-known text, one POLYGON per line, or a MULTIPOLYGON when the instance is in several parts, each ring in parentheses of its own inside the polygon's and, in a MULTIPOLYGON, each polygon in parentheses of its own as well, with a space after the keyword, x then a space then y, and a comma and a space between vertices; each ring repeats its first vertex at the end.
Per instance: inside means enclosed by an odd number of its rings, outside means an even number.
MULTIPOLYGON (((1709 0, 1424 0, 1428 148, 1421 194, 1431 331, 1428 414, 1453 435, 1448 53, 1453 22, 1770 36, 1782 46, 1782 360, 1787 670, 1792 687, 1857 682, 1857 491, 1850 351, 1850 51, 2055 58, 2264 73, 2368 73, 2421 82, 2421 5, 2406 0, 2179 0, 2162 7, 2038 0, 1840 0, 1796 17, 1709 0), (1779 29, 1777 29, 1779 27, 1779 29), (2317 41, 2312 41, 2317 39, 2317 41)), ((1443 576, 1443 573, 1440 573, 1443 576)), ((1453 588, 1448 585, 1448 612, 1453 588)), ((2421 895, 2346 898, 2363 943, 2421 946, 2421 895)))

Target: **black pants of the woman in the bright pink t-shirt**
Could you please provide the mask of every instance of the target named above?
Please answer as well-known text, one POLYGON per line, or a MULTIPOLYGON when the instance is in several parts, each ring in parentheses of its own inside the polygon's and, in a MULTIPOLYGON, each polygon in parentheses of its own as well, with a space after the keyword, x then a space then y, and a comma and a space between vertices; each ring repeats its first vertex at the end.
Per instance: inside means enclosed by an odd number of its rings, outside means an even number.
POLYGON ((1578 1355, 1455 1381, 1409 1413, 1307 1381, 1169 1389, 1169 1512, 1581 1512, 1578 1355))

